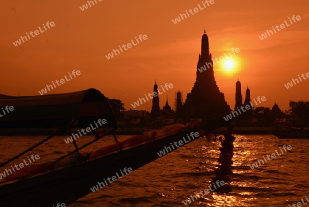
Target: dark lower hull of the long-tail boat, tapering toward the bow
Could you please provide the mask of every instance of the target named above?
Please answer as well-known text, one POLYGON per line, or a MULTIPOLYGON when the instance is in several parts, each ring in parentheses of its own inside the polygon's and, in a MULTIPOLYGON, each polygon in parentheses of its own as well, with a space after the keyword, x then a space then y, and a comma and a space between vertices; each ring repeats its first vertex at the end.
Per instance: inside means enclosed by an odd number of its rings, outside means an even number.
POLYGON ((170 146, 171 142, 183 140, 183 136, 190 132, 178 133, 84 164, 0 186, 0 206, 28 204, 42 207, 58 203, 70 204, 91 193, 90 188, 96 186, 98 182, 103 182, 104 178, 119 173, 119 170, 130 167, 135 171, 157 160, 159 158, 157 152, 163 150, 165 146, 170 146))

